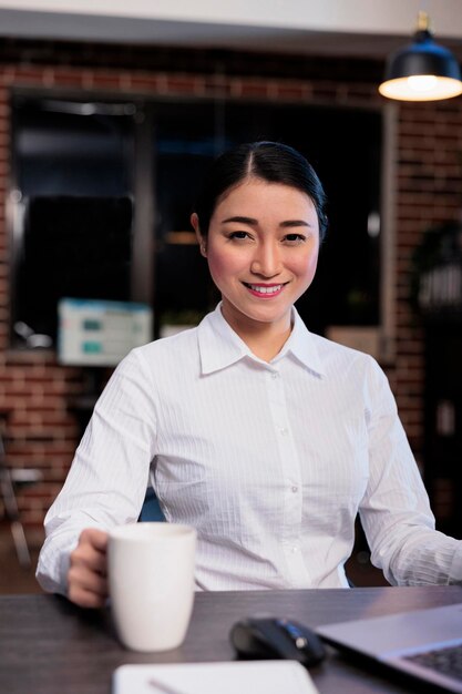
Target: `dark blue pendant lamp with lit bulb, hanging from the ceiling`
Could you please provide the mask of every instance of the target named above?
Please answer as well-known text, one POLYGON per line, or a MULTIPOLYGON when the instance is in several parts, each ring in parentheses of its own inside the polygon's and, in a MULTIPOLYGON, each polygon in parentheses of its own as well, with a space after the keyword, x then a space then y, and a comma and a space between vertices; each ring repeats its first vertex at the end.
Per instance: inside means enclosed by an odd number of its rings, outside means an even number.
POLYGON ((438 101, 462 94, 459 63, 451 51, 433 41, 427 12, 419 12, 413 42, 387 61, 379 92, 399 101, 438 101))

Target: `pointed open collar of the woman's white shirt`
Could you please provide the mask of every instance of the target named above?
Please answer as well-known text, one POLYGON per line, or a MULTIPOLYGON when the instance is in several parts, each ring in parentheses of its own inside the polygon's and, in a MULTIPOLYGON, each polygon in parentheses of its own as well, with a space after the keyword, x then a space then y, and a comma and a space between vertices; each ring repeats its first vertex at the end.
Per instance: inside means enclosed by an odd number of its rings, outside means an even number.
MULTIPOLYGON (((286 356, 294 356, 311 372, 325 374, 314 336, 292 307, 294 328, 281 351, 273 359, 276 365, 286 356)), ((212 374, 248 357, 260 361, 244 340, 233 330, 222 314, 222 303, 214 312, 205 316, 197 328, 202 372, 212 374)), ((261 364, 265 364, 261 361, 261 364)), ((266 364, 267 367, 270 365, 266 364)))

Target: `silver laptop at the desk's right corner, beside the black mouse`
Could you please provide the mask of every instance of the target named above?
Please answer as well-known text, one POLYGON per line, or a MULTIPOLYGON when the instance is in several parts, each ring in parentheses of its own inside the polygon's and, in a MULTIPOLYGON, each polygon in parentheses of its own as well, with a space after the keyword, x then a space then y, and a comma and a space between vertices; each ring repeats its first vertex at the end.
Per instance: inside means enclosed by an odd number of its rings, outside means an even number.
POLYGON ((318 626, 324 641, 462 692, 462 603, 318 626))

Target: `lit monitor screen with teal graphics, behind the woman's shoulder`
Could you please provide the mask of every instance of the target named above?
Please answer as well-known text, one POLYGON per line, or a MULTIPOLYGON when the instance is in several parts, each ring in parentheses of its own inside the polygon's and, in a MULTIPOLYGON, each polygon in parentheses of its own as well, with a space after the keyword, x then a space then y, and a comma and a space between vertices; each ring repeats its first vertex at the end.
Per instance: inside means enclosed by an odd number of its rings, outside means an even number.
POLYGON ((133 347, 152 340, 152 308, 132 302, 62 298, 58 304, 58 360, 116 366, 133 347))

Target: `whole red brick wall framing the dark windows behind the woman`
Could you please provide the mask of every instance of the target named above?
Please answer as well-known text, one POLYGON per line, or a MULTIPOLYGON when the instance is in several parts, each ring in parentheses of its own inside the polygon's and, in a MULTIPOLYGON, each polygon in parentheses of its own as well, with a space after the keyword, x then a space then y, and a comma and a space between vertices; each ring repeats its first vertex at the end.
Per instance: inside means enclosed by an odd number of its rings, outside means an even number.
MULTIPOLYGON (((43 482, 19 502, 29 531, 61 488, 78 443, 69 398, 83 391, 80 369, 61 367, 49 351, 8 347, 10 93, 19 86, 123 95, 213 96, 341 105, 378 105, 381 65, 367 61, 297 59, 199 51, 153 51, 9 41, 0 48, 0 414, 8 415, 8 450, 17 467, 35 467, 43 482)), ((396 157, 397 356, 387 366, 411 446, 423 437, 423 338, 409 306, 409 261, 430 225, 459 216, 462 181, 462 102, 399 106, 396 157)))

